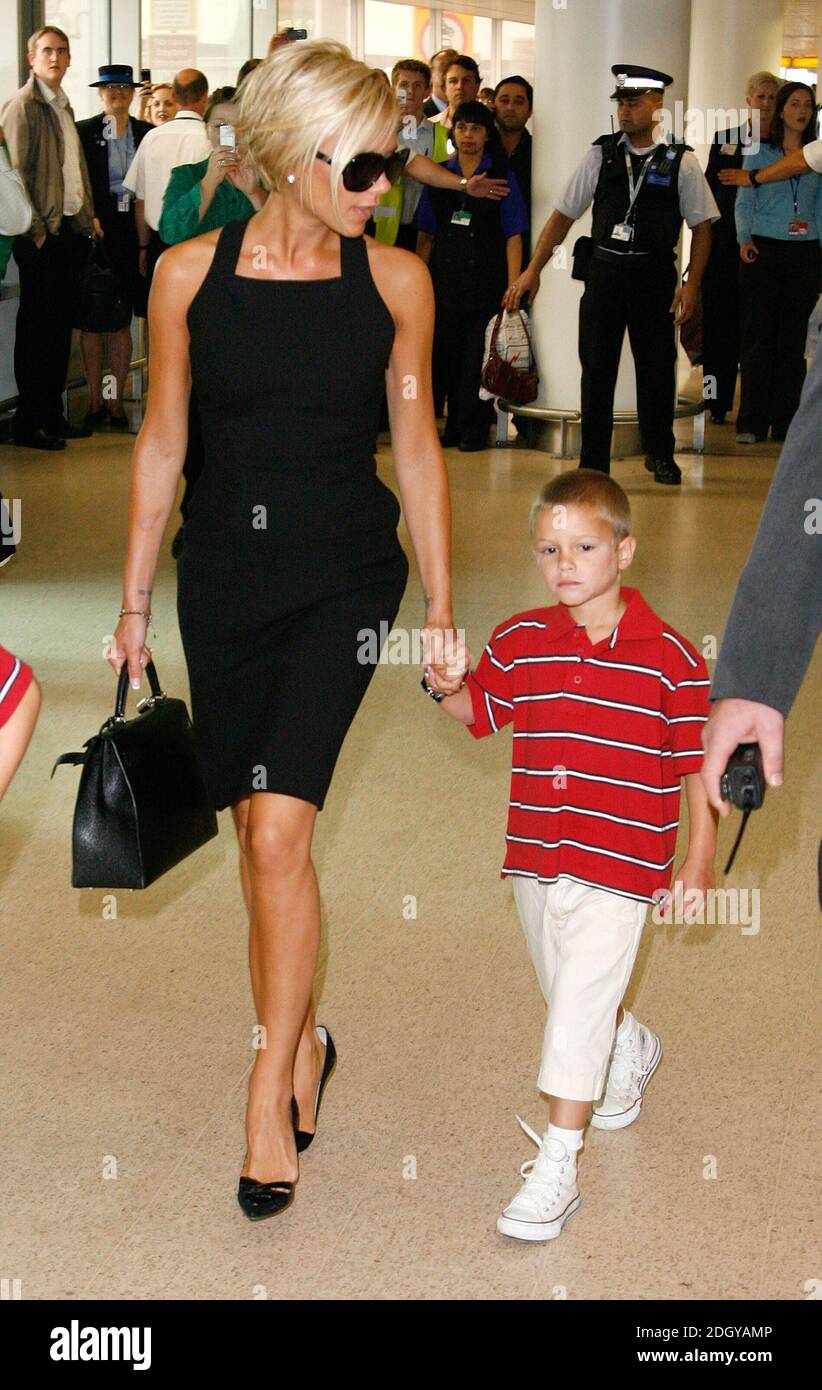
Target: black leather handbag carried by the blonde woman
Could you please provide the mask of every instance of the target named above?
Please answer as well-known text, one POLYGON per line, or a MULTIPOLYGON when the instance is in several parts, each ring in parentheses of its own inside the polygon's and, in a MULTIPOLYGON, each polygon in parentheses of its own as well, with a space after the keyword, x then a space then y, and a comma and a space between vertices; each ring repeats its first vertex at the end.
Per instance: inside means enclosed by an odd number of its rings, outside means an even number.
POLYGON ((60 763, 82 763, 74 808, 72 888, 147 888, 154 878, 217 834, 195 751, 185 701, 160 687, 154 663, 152 694, 125 717, 128 664, 117 685, 114 714, 88 738, 85 752, 60 763))

